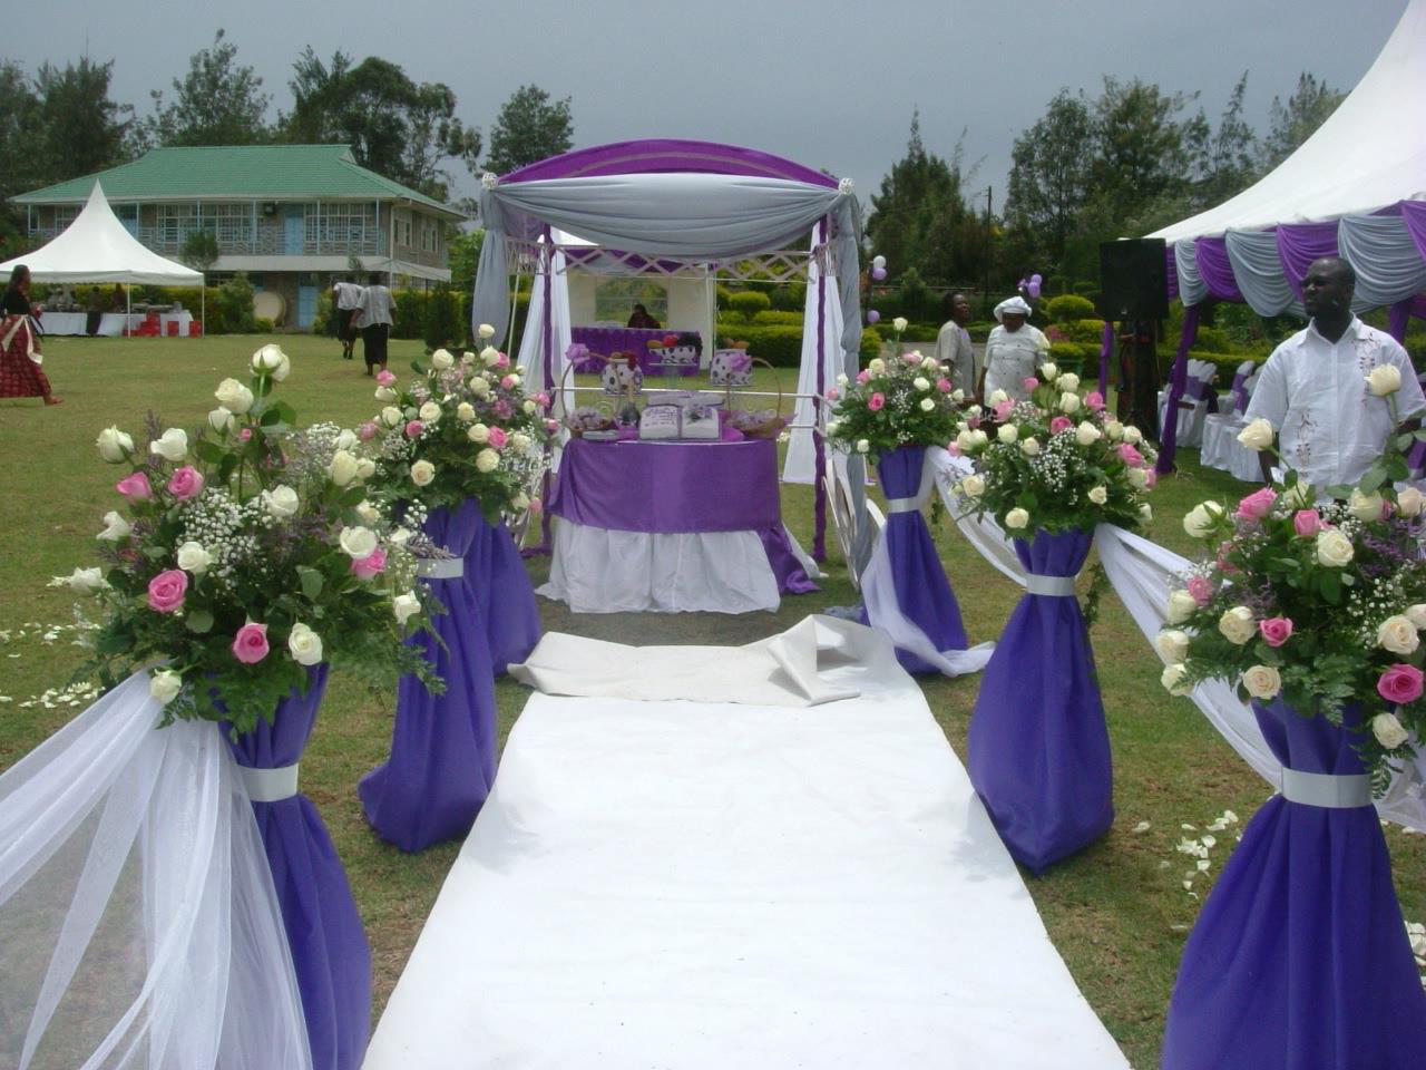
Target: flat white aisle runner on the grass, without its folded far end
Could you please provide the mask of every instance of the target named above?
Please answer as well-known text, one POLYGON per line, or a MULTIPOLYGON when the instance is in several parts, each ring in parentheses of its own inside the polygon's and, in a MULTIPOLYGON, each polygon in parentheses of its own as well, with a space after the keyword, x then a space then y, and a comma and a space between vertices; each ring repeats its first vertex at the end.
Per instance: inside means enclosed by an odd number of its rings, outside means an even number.
POLYGON ((366 1070, 1127 1069, 890 648, 823 676, 533 695, 366 1070))

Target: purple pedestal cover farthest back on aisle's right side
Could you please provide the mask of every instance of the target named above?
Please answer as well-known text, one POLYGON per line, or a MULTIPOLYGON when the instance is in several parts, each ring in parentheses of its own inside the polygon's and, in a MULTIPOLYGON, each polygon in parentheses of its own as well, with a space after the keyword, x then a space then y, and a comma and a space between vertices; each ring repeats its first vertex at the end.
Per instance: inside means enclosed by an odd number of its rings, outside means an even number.
MULTIPOLYGON (((914 498, 921 486, 921 469, 925 462, 925 447, 897 447, 890 454, 877 458, 877 477, 881 491, 890 498, 914 498)), ((891 576, 896 586, 896 601, 901 613, 914 622, 937 651, 964 651, 970 646, 965 626, 961 623, 961 608, 945 576, 941 558, 935 552, 931 529, 920 509, 890 512, 881 538, 887 541, 887 556, 891 561, 891 576)), ((861 623, 868 623, 867 611, 861 611, 861 623)), ((913 673, 940 672, 917 655, 898 649, 896 652, 901 668, 913 673)))

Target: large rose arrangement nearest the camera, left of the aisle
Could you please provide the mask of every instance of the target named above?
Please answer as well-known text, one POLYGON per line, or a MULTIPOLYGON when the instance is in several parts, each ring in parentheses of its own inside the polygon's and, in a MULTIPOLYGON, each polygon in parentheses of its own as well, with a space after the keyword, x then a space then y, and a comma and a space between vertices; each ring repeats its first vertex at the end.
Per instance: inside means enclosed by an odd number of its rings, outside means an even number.
POLYGON ((123 468, 123 506, 104 515, 103 566, 58 582, 93 595, 106 619, 81 669, 106 686, 163 662, 150 692, 174 718, 271 720, 307 668, 332 662, 374 683, 414 672, 439 686, 406 632, 425 623, 411 532, 368 499, 375 472, 356 435, 297 431, 274 389, 289 372, 277 345, 248 384, 224 379, 195 434, 150 417, 148 441, 110 427, 100 457, 123 468))

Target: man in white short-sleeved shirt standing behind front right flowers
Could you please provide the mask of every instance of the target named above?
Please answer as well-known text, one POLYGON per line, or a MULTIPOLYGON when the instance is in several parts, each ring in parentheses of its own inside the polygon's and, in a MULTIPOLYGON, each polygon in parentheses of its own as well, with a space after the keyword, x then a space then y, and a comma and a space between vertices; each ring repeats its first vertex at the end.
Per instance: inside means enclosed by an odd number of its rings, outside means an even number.
MULTIPOLYGON (((1272 424, 1282 464, 1319 492, 1356 484, 1382 455, 1393 422, 1426 411, 1406 351, 1352 315, 1355 288, 1356 272, 1340 257, 1313 261, 1302 280, 1302 307, 1312 321, 1272 351, 1245 417, 1272 424), (1390 398, 1375 397, 1366 385, 1382 364, 1402 377, 1390 398)), ((1258 459, 1271 482, 1272 457, 1262 452, 1258 459)))

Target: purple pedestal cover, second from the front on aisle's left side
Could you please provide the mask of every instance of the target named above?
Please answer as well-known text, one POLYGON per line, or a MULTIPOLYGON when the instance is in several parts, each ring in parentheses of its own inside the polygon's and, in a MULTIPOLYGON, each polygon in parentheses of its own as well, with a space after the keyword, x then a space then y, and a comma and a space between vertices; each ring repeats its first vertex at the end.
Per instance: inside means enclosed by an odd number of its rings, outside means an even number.
MULTIPOLYGON (((435 509, 426 519, 432 542, 465 556, 483 526, 473 501, 435 509)), ((415 676, 396 685, 391 758, 356 785, 376 833, 402 850, 465 836, 495 782, 495 675, 485 619, 469 575, 424 579, 446 612, 432 619, 441 641, 419 632, 419 646, 445 681, 432 695, 415 676)))

